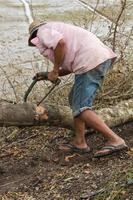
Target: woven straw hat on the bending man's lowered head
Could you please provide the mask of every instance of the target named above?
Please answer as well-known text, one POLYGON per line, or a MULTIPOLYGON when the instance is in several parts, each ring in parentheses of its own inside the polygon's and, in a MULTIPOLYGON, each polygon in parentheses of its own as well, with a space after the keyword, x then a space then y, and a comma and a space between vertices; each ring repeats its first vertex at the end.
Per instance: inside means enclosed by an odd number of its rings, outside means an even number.
POLYGON ((29 46, 34 46, 34 45, 31 43, 31 39, 34 38, 34 33, 35 33, 35 31, 37 31, 38 28, 39 28, 40 26, 42 26, 43 24, 46 24, 46 22, 44 22, 44 21, 42 22, 42 21, 38 21, 38 20, 33 21, 33 22, 30 24, 30 26, 29 26, 29 34, 30 34, 30 36, 29 36, 29 39, 28 39, 28 45, 29 45, 29 46))

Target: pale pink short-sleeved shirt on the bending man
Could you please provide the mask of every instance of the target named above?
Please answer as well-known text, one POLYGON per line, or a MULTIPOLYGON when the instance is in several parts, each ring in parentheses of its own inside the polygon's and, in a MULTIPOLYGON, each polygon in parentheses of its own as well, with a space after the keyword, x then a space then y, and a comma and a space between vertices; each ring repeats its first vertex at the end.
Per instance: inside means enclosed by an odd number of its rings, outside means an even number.
POLYGON ((75 74, 85 73, 116 57, 93 33, 63 22, 47 22, 42 25, 37 37, 31 42, 44 57, 54 63, 54 49, 61 39, 66 42, 67 49, 60 67, 75 74))

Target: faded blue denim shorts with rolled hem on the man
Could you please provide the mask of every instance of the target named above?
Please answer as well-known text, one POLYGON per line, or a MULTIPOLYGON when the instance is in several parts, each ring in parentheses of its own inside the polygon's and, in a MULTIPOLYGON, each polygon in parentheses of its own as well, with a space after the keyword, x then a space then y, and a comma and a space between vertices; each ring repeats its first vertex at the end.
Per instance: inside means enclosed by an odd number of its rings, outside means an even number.
POLYGON ((84 73, 76 74, 74 85, 69 94, 69 104, 73 116, 77 117, 86 109, 91 109, 96 91, 101 87, 105 74, 112 64, 112 59, 84 73))

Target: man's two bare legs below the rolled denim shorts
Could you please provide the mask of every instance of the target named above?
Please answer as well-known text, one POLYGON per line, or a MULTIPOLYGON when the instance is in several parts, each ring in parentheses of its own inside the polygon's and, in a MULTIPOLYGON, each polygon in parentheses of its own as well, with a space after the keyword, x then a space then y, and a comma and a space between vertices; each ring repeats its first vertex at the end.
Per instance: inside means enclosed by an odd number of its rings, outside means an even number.
MULTIPOLYGON (((94 130, 100 132, 104 138, 107 139, 105 145, 114 145, 118 146, 121 144, 125 144, 124 140, 119 137, 116 133, 114 133, 104 122, 102 119, 98 117, 95 112, 92 110, 83 111, 79 117, 74 118, 74 127, 75 127, 75 137, 71 142, 74 146, 78 148, 87 148, 87 143, 85 140, 85 124, 92 127, 94 130)), ((67 146, 62 147, 62 149, 68 149, 67 146)), ((107 151, 107 150, 102 150, 107 151)), ((100 151, 98 151, 100 152, 100 151)))

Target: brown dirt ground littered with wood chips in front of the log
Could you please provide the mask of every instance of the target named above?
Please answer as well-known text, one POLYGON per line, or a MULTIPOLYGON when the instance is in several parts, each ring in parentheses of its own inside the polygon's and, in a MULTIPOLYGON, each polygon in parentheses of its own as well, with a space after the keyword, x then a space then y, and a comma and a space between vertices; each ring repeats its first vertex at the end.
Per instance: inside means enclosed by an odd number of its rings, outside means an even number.
POLYGON ((130 151, 96 159, 104 141, 87 134, 89 155, 63 153, 73 132, 57 127, 1 128, 0 200, 132 200, 133 122, 114 130, 130 151))

